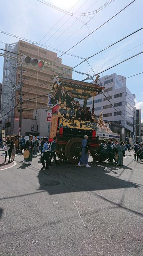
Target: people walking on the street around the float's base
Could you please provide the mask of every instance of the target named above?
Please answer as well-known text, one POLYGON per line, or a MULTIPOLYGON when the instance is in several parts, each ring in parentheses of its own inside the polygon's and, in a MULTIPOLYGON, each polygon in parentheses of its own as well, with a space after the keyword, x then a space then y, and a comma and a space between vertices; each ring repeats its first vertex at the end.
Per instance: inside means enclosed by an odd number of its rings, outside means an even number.
MULTIPOLYGON (((12 140, 12 137, 8 137, 5 145, 8 146, 8 151, 5 151, 5 160, 7 153, 9 153, 8 163, 14 161, 15 159, 15 144, 12 140), (10 161, 11 159, 11 161, 10 161)), ((112 139, 109 141, 103 141, 100 144, 100 157, 101 163, 104 164, 106 160, 108 160, 111 164, 115 163, 117 166, 123 165, 123 157, 125 157, 126 150, 130 151, 130 144, 125 144, 124 142, 118 143, 117 140, 113 142, 112 139)), ((53 142, 50 144, 48 139, 43 137, 43 139, 37 140, 37 136, 34 137, 30 135, 29 139, 25 141, 25 136, 22 136, 20 139, 20 151, 23 154, 23 151, 27 152, 28 155, 25 153, 27 157, 24 158, 23 163, 28 162, 30 165, 32 164, 33 155, 37 155, 41 152, 41 169, 49 169, 49 165, 52 165, 51 160, 54 158, 56 165, 59 162, 56 159, 56 154, 59 156, 58 145, 57 145, 57 137, 53 138, 53 142), (46 163, 46 165, 45 165, 46 163)), ((143 143, 136 142, 133 145, 133 151, 135 153, 135 161, 143 160, 143 143)), ((80 167, 82 164, 85 164, 86 167, 90 167, 88 165, 88 156, 90 154, 90 146, 88 143, 88 136, 85 135, 84 139, 82 140, 82 147, 81 147, 81 158, 79 159, 78 166, 80 167)))

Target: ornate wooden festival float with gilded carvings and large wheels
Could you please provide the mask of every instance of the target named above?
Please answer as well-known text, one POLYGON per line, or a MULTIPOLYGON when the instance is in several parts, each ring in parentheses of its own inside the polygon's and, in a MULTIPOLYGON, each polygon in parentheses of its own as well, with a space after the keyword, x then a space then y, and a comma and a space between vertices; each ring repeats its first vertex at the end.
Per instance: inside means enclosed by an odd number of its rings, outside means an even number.
POLYGON ((104 87, 96 83, 87 83, 65 77, 55 77, 52 86, 52 122, 50 129, 49 141, 52 142, 54 136, 58 138, 60 160, 68 160, 77 164, 80 158, 81 142, 84 135, 88 136, 90 152, 93 160, 100 160, 99 137, 96 135, 98 130, 105 130, 110 133, 106 123, 102 120, 102 113, 94 113, 94 98, 97 94, 102 93, 104 87), (71 90, 72 98, 75 100, 83 99, 83 109, 87 108, 87 100, 92 97, 91 120, 77 118, 77 109, 71 108, 70 105, 59 98, 56 99, 56 93, 64 87, 65 92, 71 90), (55 97, 55 101, 54 101, 55 97))

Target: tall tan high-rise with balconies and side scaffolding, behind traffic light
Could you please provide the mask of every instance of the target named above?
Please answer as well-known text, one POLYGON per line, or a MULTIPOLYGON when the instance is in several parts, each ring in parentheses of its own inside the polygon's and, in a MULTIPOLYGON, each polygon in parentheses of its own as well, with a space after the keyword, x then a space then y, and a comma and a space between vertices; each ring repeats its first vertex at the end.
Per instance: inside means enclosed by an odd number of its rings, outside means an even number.
MULTIPOLYGON (((57 58, 57 53, 22 40, 14 44, 6 44, 5 50, 47 62, 44 64, 44 68, 40 70, 32 65, 22 65, 22 100, 27 100, 22 104, 22 118, 33 120, 34 110, 39 108, 48 109, 46 94, 51 91, 53 75, 62 76, 62 73, 71 69, 71 67, 63 65, 61 58, 57 58), (28 99, 31 100, 29 101, 28 99)), ((20 95, 19 87, 17 86, 20 81, 20 67, 18 65, 20 61, 18 62, 18 58, 22 56, 6 51, 5 54, 8 57, 4 58, 3 67, 1 128, 5 127, 5 119, 11 118, 11 121, 6 123, 9 123, 10 133, 13 134, 14 122, 17 122, 15 118, 19 118, 20 114, 20 106, 19 104, 16 106, 16 104, 20 95), (11 111, 12 108, 14 108, 13 111, 11 111)), ((69 70, 63 76, 72 79, 72 71, 69 70)), ((22 134, 22 130, 20 133, 22 134)))

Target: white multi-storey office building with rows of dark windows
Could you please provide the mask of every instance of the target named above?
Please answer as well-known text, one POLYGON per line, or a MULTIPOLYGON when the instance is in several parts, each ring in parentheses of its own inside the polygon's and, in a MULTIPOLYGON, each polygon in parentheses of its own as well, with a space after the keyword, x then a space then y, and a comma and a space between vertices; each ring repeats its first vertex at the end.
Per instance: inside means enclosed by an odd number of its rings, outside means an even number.
MULTIPOLYGON (((135 94, 131 94, 126 87, 126 77, 113 73, 101 77, 98 84, 105 89, 95 97, 94 113, 99 115, 103 112, 103 120, 121 125, 124 129, 121 139, 131 142, 135 135, 135 94)), ((92 109, 92 98, 88 100, 87 106, 92 109)))

